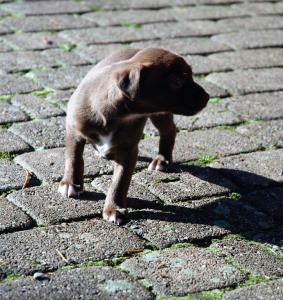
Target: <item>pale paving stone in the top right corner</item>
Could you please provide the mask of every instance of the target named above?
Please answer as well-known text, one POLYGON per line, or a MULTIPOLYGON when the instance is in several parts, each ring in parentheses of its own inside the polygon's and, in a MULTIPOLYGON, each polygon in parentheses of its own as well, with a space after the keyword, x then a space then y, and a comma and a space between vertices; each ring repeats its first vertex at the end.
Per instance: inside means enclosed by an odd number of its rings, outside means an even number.
POLYGON ((279 15, 283 13, 282 3, 241 3, 232 5, 231 8, 241 11, 242 13, 249 12, 250 15, 279 15))

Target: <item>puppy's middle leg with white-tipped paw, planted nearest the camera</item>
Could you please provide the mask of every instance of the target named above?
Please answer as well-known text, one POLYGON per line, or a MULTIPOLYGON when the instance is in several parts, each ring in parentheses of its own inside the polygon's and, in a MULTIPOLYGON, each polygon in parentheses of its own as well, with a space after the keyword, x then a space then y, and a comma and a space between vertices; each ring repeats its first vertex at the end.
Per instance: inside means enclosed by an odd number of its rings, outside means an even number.
POLYGON ((120 150, 114 159, 114 174, 103 209, 103 218, 121 225, 127 213, 127 193, 137 162, 138 147, 120 150))

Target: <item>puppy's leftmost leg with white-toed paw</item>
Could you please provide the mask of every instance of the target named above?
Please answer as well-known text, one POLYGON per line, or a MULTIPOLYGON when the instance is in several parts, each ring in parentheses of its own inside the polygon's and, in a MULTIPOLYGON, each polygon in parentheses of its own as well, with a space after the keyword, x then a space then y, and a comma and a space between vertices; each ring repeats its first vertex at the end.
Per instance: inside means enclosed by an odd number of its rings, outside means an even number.
POLYGON ((63 196, 77 198, 83 191, 85 143, 83 138, 67 128, 65 173, 58 189, 63 196))

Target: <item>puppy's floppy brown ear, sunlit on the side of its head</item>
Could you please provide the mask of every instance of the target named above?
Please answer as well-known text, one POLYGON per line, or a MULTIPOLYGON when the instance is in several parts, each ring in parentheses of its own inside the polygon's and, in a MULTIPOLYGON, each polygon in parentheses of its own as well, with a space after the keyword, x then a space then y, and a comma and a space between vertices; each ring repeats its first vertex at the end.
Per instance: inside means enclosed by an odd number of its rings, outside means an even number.
POLYGON ((130 100, 135 100, 140 87, 141 73, 151 63, 131 64, 125 67, 117 76, 117 85, 123 95, 130 100))

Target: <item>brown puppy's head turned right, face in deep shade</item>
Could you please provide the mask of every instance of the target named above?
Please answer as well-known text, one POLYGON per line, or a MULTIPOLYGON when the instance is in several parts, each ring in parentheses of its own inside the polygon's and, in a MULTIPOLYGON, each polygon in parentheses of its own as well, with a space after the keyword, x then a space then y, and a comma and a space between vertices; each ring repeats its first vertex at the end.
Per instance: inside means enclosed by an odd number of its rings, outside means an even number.
POLYGON ((139 51, 116 72, 115 80, 124 101, 138 112, 172 112, 194 115, 209 95, 193 80, 185 60, 160 48, 139 51))

